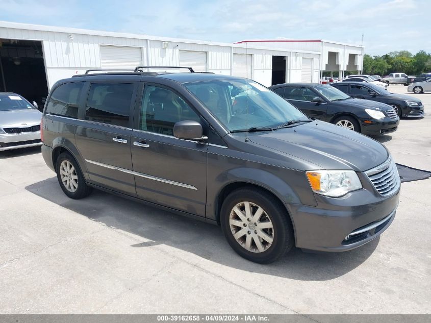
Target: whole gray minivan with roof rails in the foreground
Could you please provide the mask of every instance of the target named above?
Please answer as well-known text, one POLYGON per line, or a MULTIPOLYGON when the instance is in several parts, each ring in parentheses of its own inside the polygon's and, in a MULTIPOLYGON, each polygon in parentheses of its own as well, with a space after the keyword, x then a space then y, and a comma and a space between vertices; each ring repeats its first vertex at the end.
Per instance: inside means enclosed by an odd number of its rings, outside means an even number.
POLYGON ((41 129, 67 196, 97 188, 220 225, 259 263, 293 245, 361 246, 398 206, 399 175, 382 144, 238 77, 137 68, 61 80, 41 129))

